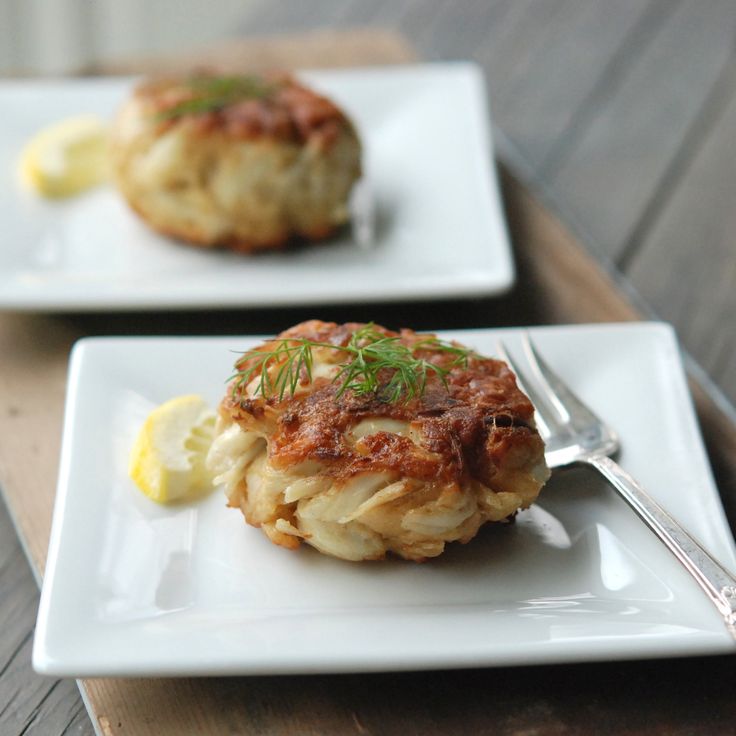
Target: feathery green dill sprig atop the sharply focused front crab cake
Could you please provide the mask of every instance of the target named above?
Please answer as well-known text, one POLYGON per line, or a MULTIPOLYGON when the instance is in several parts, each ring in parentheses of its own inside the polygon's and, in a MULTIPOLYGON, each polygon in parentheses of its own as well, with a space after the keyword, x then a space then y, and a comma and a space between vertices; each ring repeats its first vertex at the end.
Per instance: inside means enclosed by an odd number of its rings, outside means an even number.
POLYGON ((359 396, 373 395, 387 403, 407 402, 424 394, 430 376, 437 376, 445 389, 447 376, 458 366, 466 368, 475 353, 459 345, 426 337, 412 345, 405 345, 401 338, 385 335, 373 323, 356 330, 347 345, 285 338, 271 350, 250 350, 236 363, 233 391, 247 386, 255 376, 258 383, 254 395, 282 400, 287 393, 293 396, 304 376, 312 380, 314 348, 328 348, 345 354, 346 361, 333 378, 339 385, 335 394, 339 398, 347 391, 359 396), (419 355, 422 352, 442 352, 451 356, 444 365, 437 365, 419 355), (275 375, 271 369, 278 366, 275 375), (389 376, 386 380, 386 376, 389 376))

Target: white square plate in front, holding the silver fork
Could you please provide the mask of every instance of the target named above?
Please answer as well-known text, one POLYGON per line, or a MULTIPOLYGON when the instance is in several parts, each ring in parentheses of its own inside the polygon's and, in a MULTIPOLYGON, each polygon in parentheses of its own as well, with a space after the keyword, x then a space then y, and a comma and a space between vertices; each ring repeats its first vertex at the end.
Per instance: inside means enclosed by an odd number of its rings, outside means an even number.
MULTIPOLYGON (((492 354, 503 334, 444 333, 492 354)), ((733 539, 678 347, 661 324, 534 329, 621 434, 623 466, 725 565, 733 539)), ((162 507, 127 477, 146 414, 214 405, 252 338, 93 338, 71 361, 33 653, 57 676, 475 667, 734 650, 700 588, 597 477, 566 471, 515 524, 418 565, 349 563, 271 544, 207 499, 162 507)))

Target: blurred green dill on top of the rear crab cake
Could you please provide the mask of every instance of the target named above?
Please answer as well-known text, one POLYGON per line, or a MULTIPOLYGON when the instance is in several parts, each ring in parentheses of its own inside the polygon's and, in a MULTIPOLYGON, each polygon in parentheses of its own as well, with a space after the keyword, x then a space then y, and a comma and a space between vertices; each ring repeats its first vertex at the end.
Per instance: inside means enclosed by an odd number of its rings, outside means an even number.
POLYGON ((217 112, 235 102, 267 97, 277 87, 276 83, 251 75, 195 76, 185 84, 192 97, 161 111, 159 116, 162 119, 217 112))

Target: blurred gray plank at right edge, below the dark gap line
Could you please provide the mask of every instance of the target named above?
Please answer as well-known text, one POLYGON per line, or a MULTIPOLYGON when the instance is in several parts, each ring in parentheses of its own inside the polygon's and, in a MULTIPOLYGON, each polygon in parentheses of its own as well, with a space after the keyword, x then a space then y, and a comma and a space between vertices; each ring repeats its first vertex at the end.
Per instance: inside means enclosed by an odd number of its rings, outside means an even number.
POLYGON ((734 398, 736 62, 731 66, 729 104, 632 259, 629 277, 734 398))

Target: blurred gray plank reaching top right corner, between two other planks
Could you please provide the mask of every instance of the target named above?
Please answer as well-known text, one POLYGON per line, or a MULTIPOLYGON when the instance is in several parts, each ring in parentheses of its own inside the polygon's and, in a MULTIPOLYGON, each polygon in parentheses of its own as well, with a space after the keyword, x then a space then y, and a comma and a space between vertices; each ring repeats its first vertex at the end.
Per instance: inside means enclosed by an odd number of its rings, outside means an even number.
MULTIPOLYGON (((563 216, 615 259, 661 185, 733 43, 733 0, 675 8, 564 161, 544 175, 563 216)), ((646 296, 646 292, 645 292, 646 296)))

